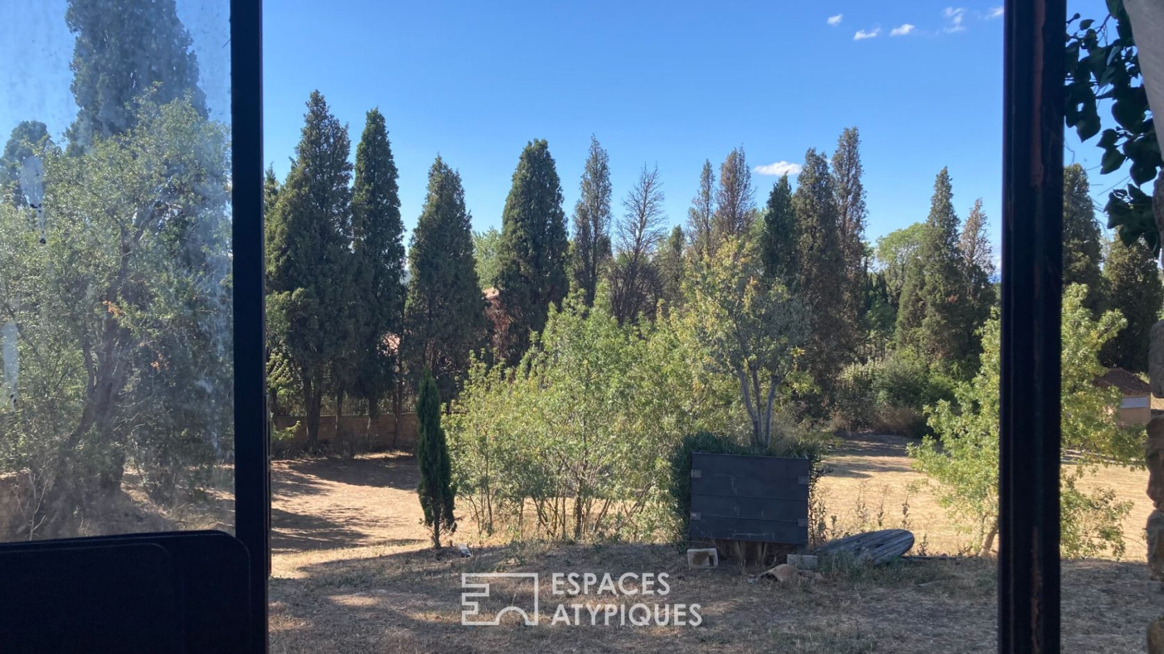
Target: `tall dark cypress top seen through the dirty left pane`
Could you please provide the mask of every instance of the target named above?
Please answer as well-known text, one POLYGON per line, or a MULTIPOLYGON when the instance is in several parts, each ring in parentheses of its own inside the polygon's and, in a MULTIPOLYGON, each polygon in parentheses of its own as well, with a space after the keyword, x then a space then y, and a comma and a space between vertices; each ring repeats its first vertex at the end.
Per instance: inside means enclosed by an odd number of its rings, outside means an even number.
POLYGON ((72 93, 79 107, 66 137, 71 150, 133 127, 133 100, 158 105, 187 98, 206 118, 198 59, 175 0, 69 0, 65 23, 77 35, 72 93))

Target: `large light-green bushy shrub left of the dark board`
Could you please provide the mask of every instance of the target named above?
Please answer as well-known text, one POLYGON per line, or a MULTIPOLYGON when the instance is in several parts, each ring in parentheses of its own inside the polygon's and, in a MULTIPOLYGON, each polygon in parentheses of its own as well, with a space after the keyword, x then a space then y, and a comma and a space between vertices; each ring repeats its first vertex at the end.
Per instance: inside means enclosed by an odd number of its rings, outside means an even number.
POLYGON ((473 367, 449 442, 483 532, 644 538, 667 524, 663 453, 732 417, 731 381, 693 364, 708 355, 682 326, 620 326, 604 301, 587 308, 575 294, 519 365, 473 367))

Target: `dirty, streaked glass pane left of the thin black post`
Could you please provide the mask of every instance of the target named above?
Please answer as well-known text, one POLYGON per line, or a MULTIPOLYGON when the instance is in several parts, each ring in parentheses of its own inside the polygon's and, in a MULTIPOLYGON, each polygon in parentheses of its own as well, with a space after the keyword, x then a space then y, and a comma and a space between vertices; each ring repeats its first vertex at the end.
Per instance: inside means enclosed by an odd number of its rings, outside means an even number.
POLYGON ((233 531, 229 3, 0 27, 0 540, 233 531))

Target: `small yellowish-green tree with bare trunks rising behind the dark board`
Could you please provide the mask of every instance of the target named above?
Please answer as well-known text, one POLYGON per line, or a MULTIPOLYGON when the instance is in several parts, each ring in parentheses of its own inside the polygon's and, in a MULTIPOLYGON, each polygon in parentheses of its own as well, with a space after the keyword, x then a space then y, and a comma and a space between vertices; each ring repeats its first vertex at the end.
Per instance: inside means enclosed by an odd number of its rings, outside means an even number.
POLYGON ((752 422, 752 442, 772 442, 776 400, 795 381, 809 339, 805 307, 779 280, 767 280, 752 240, 729 239, 687 279, 684 319, 705 343, 710 362, 734 376, 752 422))

